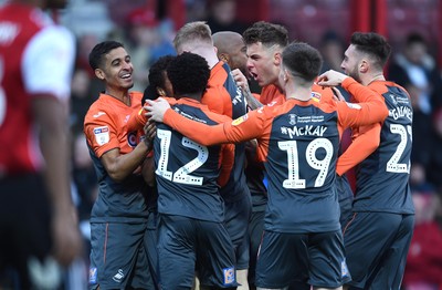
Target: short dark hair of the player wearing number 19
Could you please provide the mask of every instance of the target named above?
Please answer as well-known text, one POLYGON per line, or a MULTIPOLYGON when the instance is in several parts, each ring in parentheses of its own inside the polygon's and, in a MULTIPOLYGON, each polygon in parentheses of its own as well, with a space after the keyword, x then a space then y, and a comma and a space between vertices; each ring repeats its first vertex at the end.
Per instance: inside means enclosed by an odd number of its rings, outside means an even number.
POLYGON ((319 51, 304 42, 292 42, 283 51, 283 65, 290 73, 312 82, 323 66, 319 51))

